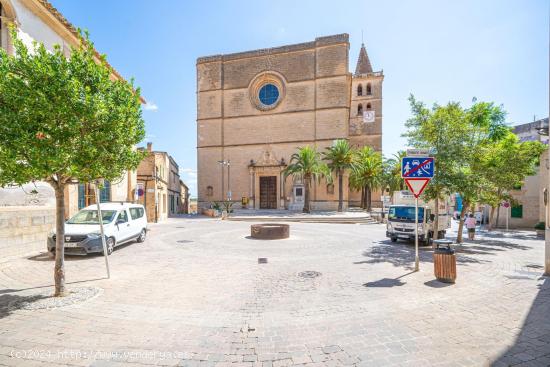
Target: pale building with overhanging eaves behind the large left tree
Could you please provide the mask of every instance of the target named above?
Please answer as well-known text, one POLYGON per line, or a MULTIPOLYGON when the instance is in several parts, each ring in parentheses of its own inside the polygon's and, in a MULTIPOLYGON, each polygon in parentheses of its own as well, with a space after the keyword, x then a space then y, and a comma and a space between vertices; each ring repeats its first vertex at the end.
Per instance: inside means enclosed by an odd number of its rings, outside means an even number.
MULTIPOLYGON (((15 26, 18 37, 28 46, 37 41, 53 50, 57 44, 69 56, 71 46, 79 45, 76 28, 46 0, 0 0, 0 47, 13 55, 10 26, 15 26)), ((112 73, 113 79, 122 78, 114 69, 112 73)), ((136 172, 128 172, 119 182, 106 185, 102 201, 132 200, 136 184, 136 172)), ((90 199, 88 185, 69 186, 65 192, 66 215, 73 215, 90 199)), ((54 191, 47 183, 0 188, 1 257, 43 249, 45 233, 54 225, 54 206, 54 191)))

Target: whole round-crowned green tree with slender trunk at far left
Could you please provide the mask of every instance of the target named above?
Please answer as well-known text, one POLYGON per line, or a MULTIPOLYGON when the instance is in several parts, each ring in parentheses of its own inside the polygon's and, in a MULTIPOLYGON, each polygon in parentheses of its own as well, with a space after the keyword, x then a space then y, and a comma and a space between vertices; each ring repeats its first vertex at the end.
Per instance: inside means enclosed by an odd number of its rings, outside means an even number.
POLYGON ((46 181, 56 196, 55 296, 67 293, 64 268, 65 188, 116 180, 135 169, 145 135, 140 91, 112 80, 88 36, 66 57, 12 29, 15 56, 0 49, 0 186, 46 181))

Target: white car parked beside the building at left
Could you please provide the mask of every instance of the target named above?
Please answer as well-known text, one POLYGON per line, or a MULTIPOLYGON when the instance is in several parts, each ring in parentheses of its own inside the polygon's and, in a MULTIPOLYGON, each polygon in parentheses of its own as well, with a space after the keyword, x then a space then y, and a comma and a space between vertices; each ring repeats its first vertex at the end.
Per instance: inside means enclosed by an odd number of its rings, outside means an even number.
MULTIPOLYGON (((107 254, 130 241, 143 242, 147 235, 147 215, 140 204, 102 203, 103 231, 107 254)), ((55 232, 48 236, 48 251, 55 254, 55 232)), ((65 253, 87 255, 102 253, 97 205, 90 205, 65 222, 65 253)))

